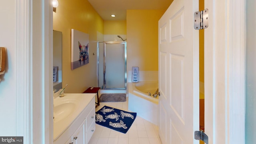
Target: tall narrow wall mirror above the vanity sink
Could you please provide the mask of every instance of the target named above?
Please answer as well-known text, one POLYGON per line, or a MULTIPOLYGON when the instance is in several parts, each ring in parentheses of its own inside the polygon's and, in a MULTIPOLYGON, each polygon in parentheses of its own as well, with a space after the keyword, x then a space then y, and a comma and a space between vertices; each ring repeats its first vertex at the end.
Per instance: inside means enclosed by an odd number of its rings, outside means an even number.
POLYGON ((53 30, 53 90, 62 88, 62 32, 53 30))

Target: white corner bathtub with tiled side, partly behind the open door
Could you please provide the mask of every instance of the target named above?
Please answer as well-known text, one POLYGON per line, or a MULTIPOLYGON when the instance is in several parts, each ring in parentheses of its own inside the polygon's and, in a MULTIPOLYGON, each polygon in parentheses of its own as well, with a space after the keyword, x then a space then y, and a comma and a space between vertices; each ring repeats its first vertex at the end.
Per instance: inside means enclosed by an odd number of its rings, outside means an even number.
POLYGON ((153 124, 158 124, 158 96, 153 94, 158 90, 158 82, 128 83, 128 110, 153 124), (148 96, 148 92, 151 96, 148 96))

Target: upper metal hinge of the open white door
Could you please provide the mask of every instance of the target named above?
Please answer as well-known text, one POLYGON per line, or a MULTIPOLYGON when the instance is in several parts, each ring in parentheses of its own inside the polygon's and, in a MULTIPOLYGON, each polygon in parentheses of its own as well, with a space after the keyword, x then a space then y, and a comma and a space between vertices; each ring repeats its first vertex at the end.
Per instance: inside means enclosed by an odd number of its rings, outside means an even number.
POLYGON ((194 13, 194 28, 196 30, 208 28, 208 9, 194 13))

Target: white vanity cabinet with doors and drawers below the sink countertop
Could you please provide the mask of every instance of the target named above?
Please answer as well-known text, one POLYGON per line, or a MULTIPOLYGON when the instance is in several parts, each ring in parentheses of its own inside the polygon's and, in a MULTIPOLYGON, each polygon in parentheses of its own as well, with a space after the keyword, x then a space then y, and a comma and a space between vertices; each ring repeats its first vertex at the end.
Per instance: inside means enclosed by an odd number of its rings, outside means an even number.
POLYGON ((88 144, 95 131, 95 94, 88 98, 90 102, 54 144, 88 144))

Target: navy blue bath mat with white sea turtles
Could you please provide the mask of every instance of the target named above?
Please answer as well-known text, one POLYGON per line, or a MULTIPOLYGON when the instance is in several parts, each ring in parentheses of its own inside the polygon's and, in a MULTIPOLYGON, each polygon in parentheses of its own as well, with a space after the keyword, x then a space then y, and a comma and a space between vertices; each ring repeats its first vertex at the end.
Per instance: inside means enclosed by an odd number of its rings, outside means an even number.
POLYGON ((118 132, 126 134, 129 128, 132 126, 137 113, 126 112, 109 106, 103 106, 95 114, 96 124, 111 128, 118 132))

